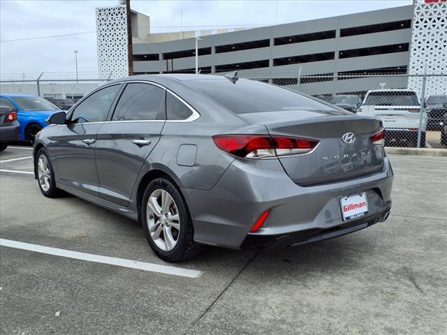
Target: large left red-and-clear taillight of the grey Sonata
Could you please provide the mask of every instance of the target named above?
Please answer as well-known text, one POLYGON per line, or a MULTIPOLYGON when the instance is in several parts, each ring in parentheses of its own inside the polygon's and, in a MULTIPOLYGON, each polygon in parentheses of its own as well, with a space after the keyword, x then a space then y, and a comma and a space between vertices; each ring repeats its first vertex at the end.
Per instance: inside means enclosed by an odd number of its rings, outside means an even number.
POLYGON ((277 135, 214 135, 216 146, 242 158, 271 158, 307 154, 319 141, 277 135))

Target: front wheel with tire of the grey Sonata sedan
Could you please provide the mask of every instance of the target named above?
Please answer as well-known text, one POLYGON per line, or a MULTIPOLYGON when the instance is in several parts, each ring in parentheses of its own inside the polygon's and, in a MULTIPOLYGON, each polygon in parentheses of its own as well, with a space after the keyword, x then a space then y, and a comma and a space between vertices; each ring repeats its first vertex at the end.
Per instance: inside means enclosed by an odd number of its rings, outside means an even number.
POLYGON ((54 170, 45 148, 41 148, 38 151, 34 164, 36 165, 38 186, 42 194, 47 198, 57 198, 61 196, 63 192, 56 187, 54 170))

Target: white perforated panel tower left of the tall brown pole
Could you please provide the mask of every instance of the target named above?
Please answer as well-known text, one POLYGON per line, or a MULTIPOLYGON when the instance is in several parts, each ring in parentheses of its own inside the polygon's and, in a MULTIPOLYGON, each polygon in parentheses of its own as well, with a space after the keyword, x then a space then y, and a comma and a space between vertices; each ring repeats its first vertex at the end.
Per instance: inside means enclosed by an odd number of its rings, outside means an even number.
POLYGON ((129 75, 126 7, 96 8, 96 38, 100 77, 129 75))

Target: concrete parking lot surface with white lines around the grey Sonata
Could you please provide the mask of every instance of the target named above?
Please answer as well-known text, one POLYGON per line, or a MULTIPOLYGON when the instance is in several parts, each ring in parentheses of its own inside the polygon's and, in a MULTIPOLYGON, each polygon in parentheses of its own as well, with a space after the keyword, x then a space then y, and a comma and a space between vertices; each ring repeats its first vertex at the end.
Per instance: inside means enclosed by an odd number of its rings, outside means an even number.
POLYGON ((138 223, 43 197, 30 156, 0 154, 1 334, 447 332, 447 157, 390 156, 385 223, 295 248, 207 246, 171 265, 138 223))

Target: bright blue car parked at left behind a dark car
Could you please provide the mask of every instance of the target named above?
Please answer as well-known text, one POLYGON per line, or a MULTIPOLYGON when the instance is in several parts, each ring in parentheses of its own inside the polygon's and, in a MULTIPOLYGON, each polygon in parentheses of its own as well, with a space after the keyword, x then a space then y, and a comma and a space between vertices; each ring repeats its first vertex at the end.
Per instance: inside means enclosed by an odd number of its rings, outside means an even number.
POLYGON ((29 94, 0 94, 0 106, 12 108, 20 122, 20 140, 34 142, 34 137, 51 114, 61 110, 40 96, 29 94))

